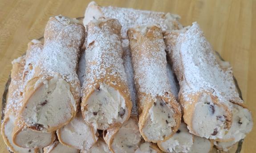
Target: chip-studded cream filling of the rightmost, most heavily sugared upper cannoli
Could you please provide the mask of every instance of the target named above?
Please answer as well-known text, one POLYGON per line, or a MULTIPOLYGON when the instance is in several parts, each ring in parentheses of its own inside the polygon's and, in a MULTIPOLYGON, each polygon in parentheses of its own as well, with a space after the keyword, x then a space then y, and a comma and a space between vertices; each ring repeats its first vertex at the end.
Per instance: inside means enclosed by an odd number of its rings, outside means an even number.
POLYGON ((215 105, 211 96, 203 93, 195 104, 192 128, 201 137, 222 138, 227 131, 225 115, 223 107, 215 105))

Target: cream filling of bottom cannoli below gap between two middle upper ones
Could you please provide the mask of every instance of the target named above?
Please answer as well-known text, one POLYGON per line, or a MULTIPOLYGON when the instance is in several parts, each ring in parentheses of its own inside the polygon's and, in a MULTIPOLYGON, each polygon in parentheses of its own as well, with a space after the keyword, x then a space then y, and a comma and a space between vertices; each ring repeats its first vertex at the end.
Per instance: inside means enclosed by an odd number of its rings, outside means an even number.
POLYGON ((115 153, 134 153, 141 140, 138 122, 130 118, 114 135, 111 148, 115 153))

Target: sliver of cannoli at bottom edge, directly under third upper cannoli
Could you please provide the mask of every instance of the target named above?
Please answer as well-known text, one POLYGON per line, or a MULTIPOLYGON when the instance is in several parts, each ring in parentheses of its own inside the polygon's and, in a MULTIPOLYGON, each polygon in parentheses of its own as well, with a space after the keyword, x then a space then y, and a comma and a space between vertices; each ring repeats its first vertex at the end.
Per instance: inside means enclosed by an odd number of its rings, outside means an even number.
POLYGON ((152 142, 142 142, 135 153, 163 153, 163 151, 152 142))

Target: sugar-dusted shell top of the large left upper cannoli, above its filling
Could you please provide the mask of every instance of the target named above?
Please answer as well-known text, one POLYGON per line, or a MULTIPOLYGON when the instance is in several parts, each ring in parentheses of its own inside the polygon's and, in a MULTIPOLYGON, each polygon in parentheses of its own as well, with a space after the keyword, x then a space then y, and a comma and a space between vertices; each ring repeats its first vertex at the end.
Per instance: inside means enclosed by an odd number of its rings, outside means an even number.
POLYGON ((73 92, 80 93, 76 70, 80 47, 85 36, 83 27, 67 17, 55 16, 50 18, 45 31, 47 41, 38 62, 39 75, 45 79, 59 74, 71 87, 76 87, 73 92), (55 31, 52 31, 53 29, 55 31), (52 31, 50 35, 49 31, 52 31))

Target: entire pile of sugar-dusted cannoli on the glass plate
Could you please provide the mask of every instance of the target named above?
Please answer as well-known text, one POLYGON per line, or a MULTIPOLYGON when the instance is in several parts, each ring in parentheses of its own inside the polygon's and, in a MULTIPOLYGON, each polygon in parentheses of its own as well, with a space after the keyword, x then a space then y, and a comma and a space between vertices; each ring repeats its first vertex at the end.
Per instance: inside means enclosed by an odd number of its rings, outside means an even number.
POLYGON ((12 62, 1 133, 14 153, 211 153, 252 130, 232 67, 197 23, 90 2, 12 62), (86 30, 85 30, 86 29, 86 30))

